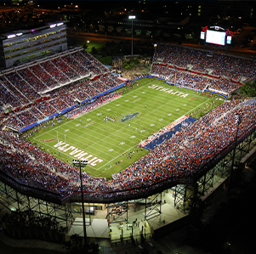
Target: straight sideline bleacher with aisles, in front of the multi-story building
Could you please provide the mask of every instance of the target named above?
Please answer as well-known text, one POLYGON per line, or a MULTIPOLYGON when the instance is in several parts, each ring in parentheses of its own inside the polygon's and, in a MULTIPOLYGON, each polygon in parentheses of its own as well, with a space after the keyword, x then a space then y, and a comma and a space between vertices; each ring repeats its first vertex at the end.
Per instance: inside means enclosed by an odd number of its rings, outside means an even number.
POLYGON ((11 68, 0 74, 0 126, 19 131, 120 84, 82 48, 11 68))

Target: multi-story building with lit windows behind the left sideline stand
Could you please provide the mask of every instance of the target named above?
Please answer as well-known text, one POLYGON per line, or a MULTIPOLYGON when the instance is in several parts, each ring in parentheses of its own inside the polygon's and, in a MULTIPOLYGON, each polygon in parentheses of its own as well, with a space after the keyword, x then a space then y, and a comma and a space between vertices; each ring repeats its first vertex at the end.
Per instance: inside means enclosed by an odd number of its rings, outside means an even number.
POLYGON ((0 35, 0 65, 9 68, 67 49, 66 25, 54 22, 0 35))

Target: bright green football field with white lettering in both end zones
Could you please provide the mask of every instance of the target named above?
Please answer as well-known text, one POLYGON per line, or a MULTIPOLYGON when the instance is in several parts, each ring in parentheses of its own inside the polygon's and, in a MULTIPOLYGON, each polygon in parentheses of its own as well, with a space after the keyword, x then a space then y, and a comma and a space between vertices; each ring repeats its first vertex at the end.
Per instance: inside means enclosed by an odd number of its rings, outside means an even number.
MULTIPOLYGON (((169 86, 154 78, 140 79, 138 86, 98 108, 62 120, 31 137, 44 150, 71 164, 73 159, 88 160, 85 172, 111 178, 148 150, 138 144, 181 116, 200 117, 201 110, 212 110, 213 98, 185 88, 169 86)), ((122 89, 121 89, 122 90, 122 89)), ((220 104, 214 100, 213 106, 220 104)))

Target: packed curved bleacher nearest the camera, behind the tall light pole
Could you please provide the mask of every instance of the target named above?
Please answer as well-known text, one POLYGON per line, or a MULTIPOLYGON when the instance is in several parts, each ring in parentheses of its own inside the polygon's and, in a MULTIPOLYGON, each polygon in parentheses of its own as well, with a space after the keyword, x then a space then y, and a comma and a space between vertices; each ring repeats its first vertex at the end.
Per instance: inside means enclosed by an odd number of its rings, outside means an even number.
MULTIPOLYGON (((85 192, 92 197, 128 195, 162 183, 190 181, 210 161, 229 149, 236 137, 235 115, 241 114, 238 141, 255 128, 256 101, 230 101, 181 128, 133 165, 112 176, 94 178, 83 173, 85 192)), ((20 183, 63 196, 79 193, 79 171, 8 131, 0 132, 1 171, 20 183)))

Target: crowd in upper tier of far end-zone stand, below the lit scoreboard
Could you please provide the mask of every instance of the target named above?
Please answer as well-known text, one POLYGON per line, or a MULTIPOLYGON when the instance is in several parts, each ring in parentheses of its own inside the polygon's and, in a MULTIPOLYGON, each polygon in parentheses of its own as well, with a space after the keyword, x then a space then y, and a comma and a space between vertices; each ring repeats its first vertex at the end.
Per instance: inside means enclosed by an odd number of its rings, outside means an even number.
POLYGON ((158 44, 153 63, 173 65, 240 81, 256 78, 255 59, 230 56, 179 45, 158 44))

